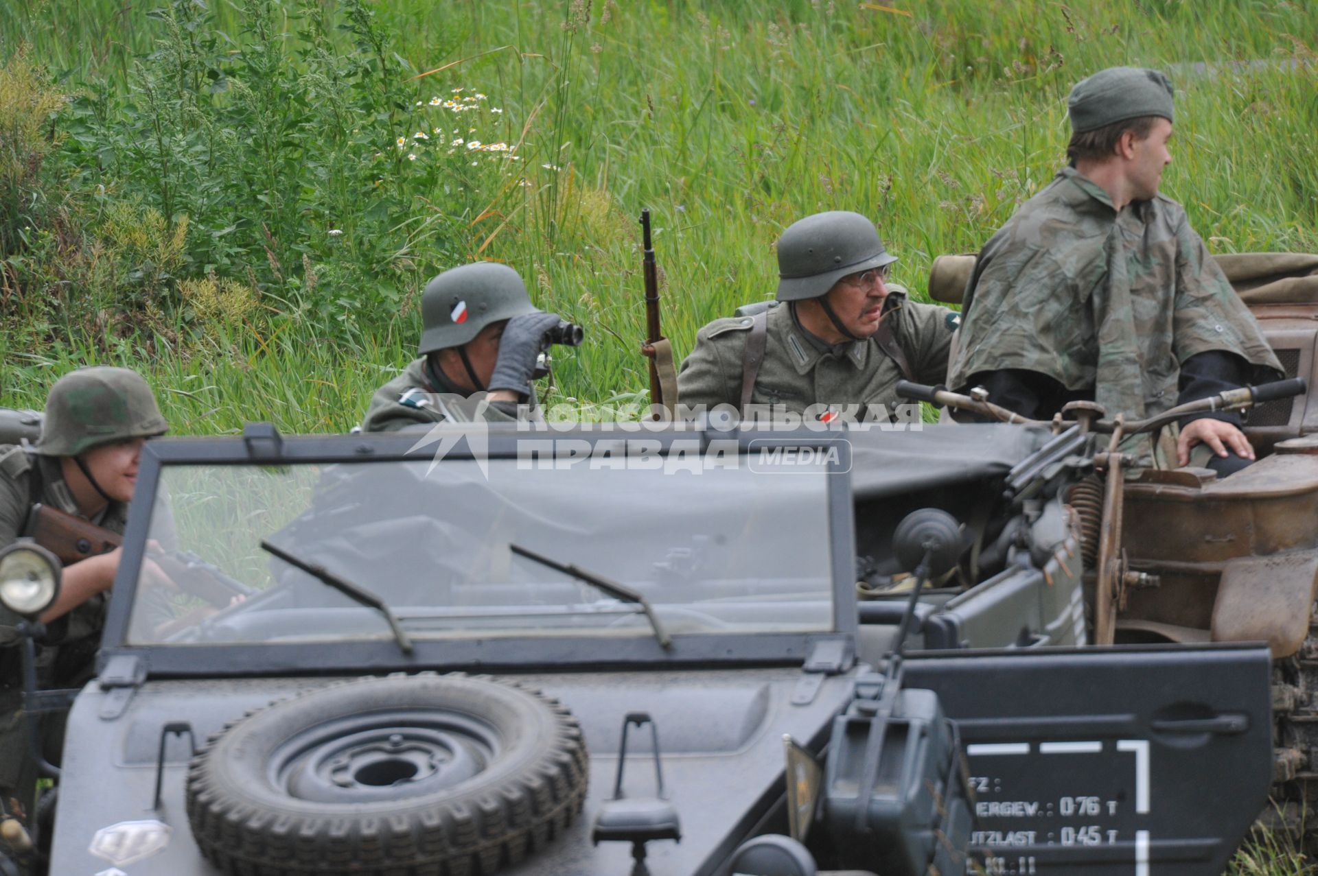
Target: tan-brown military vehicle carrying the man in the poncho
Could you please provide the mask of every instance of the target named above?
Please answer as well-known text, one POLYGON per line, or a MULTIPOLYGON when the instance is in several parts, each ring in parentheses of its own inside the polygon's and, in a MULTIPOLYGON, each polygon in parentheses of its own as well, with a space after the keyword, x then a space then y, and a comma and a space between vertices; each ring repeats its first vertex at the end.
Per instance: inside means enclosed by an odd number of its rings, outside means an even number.
MULTIPOLYGON (((929 294, 960 303, 973 256, 936 260, 929 294)), ((1217 257, 1259 320, 1288 378, 1318 381, 1318 256, 1217 257)), ((1318 850, 1318 399, 1278 398, 1248 414, 1260 461, 1218 481, 1207 469, 1144 470, 1124 485, 1108 545, 1143 586, 1119 588, 1119 643, 1267 642, 1273 664, 1275 800, 1282 821, 1318 850)), ((1102 487, 1069 503, 1098 565, 1102 487)), ((1090 584, 1093 588, 1093 582, 1090 584)), ((1271 813, 1269 813, 1271 814, 1271 813)), ((1271 819, 1275 821, 1275 819, 1271 819)))

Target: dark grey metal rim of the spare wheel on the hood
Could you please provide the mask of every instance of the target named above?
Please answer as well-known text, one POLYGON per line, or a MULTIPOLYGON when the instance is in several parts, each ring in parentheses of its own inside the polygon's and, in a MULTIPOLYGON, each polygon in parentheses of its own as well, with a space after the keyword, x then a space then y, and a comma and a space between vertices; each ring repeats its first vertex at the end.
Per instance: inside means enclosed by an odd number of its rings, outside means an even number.
POLYGON ((326 804, 398 801, 453 788, 501 753, 484 721, 438 710, 347 715, 308 727, 272 752, 272 784, 326 804))

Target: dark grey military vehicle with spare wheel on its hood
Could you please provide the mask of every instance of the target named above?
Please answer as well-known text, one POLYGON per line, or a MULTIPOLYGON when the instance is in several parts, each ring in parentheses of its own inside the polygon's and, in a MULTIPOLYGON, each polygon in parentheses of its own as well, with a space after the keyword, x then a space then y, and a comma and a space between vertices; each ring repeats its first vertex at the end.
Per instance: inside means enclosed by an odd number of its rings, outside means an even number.
POLYGON ((1271 653, 1086 647, 1085 429, 821 429, 148 443, 29 865, 1220 872, 1271 653))

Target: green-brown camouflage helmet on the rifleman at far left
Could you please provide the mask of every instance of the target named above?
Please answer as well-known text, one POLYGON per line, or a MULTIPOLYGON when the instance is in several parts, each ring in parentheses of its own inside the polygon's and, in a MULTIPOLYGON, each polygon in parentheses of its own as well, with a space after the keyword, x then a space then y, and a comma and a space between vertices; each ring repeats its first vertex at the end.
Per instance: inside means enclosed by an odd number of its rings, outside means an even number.
POLYGON ((166 429, 169 423, 141 374, 127 368, 80 368, 50 387, 33 448, 45 456, 79 456, 101 444, 166 429))

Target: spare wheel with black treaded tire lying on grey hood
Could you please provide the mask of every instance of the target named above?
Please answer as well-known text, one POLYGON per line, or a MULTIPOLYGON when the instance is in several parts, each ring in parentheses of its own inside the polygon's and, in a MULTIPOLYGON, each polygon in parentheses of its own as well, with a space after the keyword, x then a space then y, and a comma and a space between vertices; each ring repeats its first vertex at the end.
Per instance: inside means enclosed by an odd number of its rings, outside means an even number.
POLYGON ((225 873, 459 873, 522 860, 581 810, 588 761, 565 706, 465 674, 360 678, 215 734, 187 818, 225 873))

